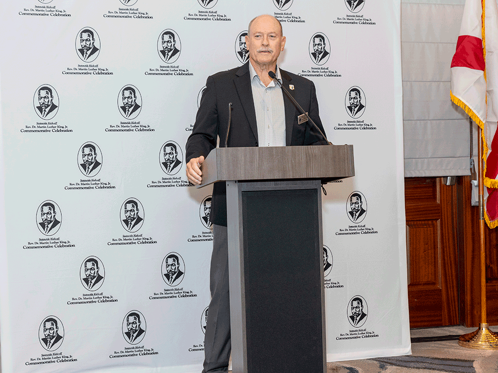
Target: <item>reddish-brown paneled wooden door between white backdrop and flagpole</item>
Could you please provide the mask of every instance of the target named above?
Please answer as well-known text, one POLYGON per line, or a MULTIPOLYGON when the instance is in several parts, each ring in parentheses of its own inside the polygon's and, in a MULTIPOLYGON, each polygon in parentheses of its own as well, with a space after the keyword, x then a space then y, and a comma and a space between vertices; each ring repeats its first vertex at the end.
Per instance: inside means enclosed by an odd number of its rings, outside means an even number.
POLYGON ((410 327, 456 325, 457 187, 406 178, 405 208, 410 327))

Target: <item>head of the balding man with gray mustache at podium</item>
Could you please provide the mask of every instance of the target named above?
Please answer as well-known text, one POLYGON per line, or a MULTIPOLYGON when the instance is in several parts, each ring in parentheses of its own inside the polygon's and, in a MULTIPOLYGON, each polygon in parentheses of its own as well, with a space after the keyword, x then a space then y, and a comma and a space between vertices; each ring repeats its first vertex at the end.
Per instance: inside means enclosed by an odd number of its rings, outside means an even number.
POLYGON ((258 66, 276 63, 285 46, 278 21, 270 15, 262 15, 252 21, 246 36, 249 58, 258 66))

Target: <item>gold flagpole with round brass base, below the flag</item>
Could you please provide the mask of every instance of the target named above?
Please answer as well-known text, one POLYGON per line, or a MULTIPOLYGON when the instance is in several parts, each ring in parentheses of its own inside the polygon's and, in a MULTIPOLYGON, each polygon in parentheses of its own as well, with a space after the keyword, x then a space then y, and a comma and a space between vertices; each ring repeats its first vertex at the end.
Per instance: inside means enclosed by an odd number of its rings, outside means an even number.
MULTIPOLYGON (((484 167, 483 167, 483 129, 479 127, 478 148, 478 174, 479 174, 479 234, 481 248, 481 324, 479 328, 468 334, 463 334, 458 339, 462 347, 475 350, 498 350, 498 335, 488 328, 486 315, 486 242, 484 219, 484 167)), ((471 154, 472 156, 472 154, 471 154)))

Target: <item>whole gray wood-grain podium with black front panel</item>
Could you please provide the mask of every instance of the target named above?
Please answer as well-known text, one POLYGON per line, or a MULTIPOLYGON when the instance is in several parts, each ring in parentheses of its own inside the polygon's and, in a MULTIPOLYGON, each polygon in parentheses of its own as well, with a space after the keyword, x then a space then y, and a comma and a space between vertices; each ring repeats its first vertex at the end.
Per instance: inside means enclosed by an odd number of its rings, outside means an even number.
POLYGON ((321 184, 353 146, 216 148, 202 173, 227 182, 233 372, 326 373, 321 184))

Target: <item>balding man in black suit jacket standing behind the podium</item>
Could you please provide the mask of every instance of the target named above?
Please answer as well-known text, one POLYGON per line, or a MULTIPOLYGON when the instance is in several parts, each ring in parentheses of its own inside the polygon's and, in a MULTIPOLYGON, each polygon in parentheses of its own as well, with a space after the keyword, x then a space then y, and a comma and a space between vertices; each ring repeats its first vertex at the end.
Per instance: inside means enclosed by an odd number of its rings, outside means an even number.
MULTIPOLYGON (((233 106, 227 146, 327 144, 318 131, 307 123, 298 124, 297 117, 301 113, 268 76, 268 72, 274 72, 277 79, 281 79, 282 85, 290 89, 290 93, 323 131, 314 84, 305 78, 280 70, 276 65, 285 45, 280 22, 271 15, 254 18, 249 23, 246 44, 249 49, 248 63, 207 79, 206 92, 202 96, 194 128, 186 146, 186 174, 193 184, 201 183, 200 166, 209 152, 216 147, 218 136, 222 139, 220 146, 225 146, 229 102, 232 102, 233 106), (265 99, 269 101, 265 102, 265 99), (271 119, 266 120, 266 110, 262 109, 263 107, 272 108, 271 119)), ((231 351, 225 182, 214 185, 212 202, 212 298, 204 340, 204 373, 226 372, 231 351)))

